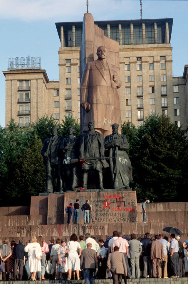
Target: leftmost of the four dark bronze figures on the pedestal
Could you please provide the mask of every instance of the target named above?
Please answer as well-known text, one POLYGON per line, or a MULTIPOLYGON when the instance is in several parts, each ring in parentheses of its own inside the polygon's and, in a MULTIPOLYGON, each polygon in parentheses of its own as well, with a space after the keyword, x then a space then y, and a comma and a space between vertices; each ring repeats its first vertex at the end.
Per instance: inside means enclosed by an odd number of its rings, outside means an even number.
POLYGON ((51 129, 52 136, 44 140, 41 155, 46 165, 46 192, 53 193, 54 170, 57 175, 58 192, 63 191, 62 184, 62 159, 60 153, 61 137, 57 135, 57 128, 51 129))

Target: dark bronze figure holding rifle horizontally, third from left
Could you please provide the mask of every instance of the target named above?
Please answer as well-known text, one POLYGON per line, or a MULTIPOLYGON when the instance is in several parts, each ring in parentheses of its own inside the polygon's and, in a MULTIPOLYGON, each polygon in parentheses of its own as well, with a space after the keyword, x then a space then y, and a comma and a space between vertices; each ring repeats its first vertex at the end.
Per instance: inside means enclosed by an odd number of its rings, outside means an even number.
POLYGON ((87 189, 88 171, 95 169, 99 176, 99 188, 103 189, 103 167, 108 167, 104 157, 103 135, 94 130, 94 123, 88 123, 88 131, 80 136, 80 159, 84 161, 82 168, 83 187, 87 189))

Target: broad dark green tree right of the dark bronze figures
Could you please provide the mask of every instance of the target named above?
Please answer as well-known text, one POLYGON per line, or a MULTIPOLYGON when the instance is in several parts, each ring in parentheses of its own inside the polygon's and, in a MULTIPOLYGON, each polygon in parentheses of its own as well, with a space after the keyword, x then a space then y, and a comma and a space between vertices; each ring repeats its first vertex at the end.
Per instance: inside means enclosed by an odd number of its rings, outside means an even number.
MULTIPOLYGON (((134 188, 138 198, 155 201, 182 198, 182 171, 187 140, 181 128, 164 115, 151 115, 138 127, 130 149, 134 188)), ((186 167, 187 168, 187 167, 186 167)))

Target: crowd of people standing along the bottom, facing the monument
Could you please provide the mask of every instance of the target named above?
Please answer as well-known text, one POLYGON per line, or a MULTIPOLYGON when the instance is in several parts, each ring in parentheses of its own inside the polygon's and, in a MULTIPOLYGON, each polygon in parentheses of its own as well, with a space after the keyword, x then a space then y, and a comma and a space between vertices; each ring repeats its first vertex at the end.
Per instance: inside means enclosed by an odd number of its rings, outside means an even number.
POLYGON ((162 234, 144 238, 131 234, 130 238, 113 231, 113 236, 95 240, 86 233, 64 239, 51 239, 47 244, 40 235, 33 236, 26 245, 4 240, 0 246, 2 280, 85 279, 112 278, 114 284, 121 278, 178 278, 188 277, 188 240, 162 234), (24 276, 27 275, 27 276, 24 276))

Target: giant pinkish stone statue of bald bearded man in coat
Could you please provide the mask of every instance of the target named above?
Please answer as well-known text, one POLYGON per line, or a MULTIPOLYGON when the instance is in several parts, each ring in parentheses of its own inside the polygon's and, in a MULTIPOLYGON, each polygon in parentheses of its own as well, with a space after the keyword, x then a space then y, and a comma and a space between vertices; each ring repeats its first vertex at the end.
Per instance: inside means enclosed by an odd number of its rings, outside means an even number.
POLYGON ((117 89, 121 87, 118 68, 107 60, 107 48, 97 49, 98 59, 88 62, 80 83, 81 131, 87 130, 89 121, 95 123, 95 130, 103 136, 110 134, 111 124, 121 122, 120 98, 117 89))

